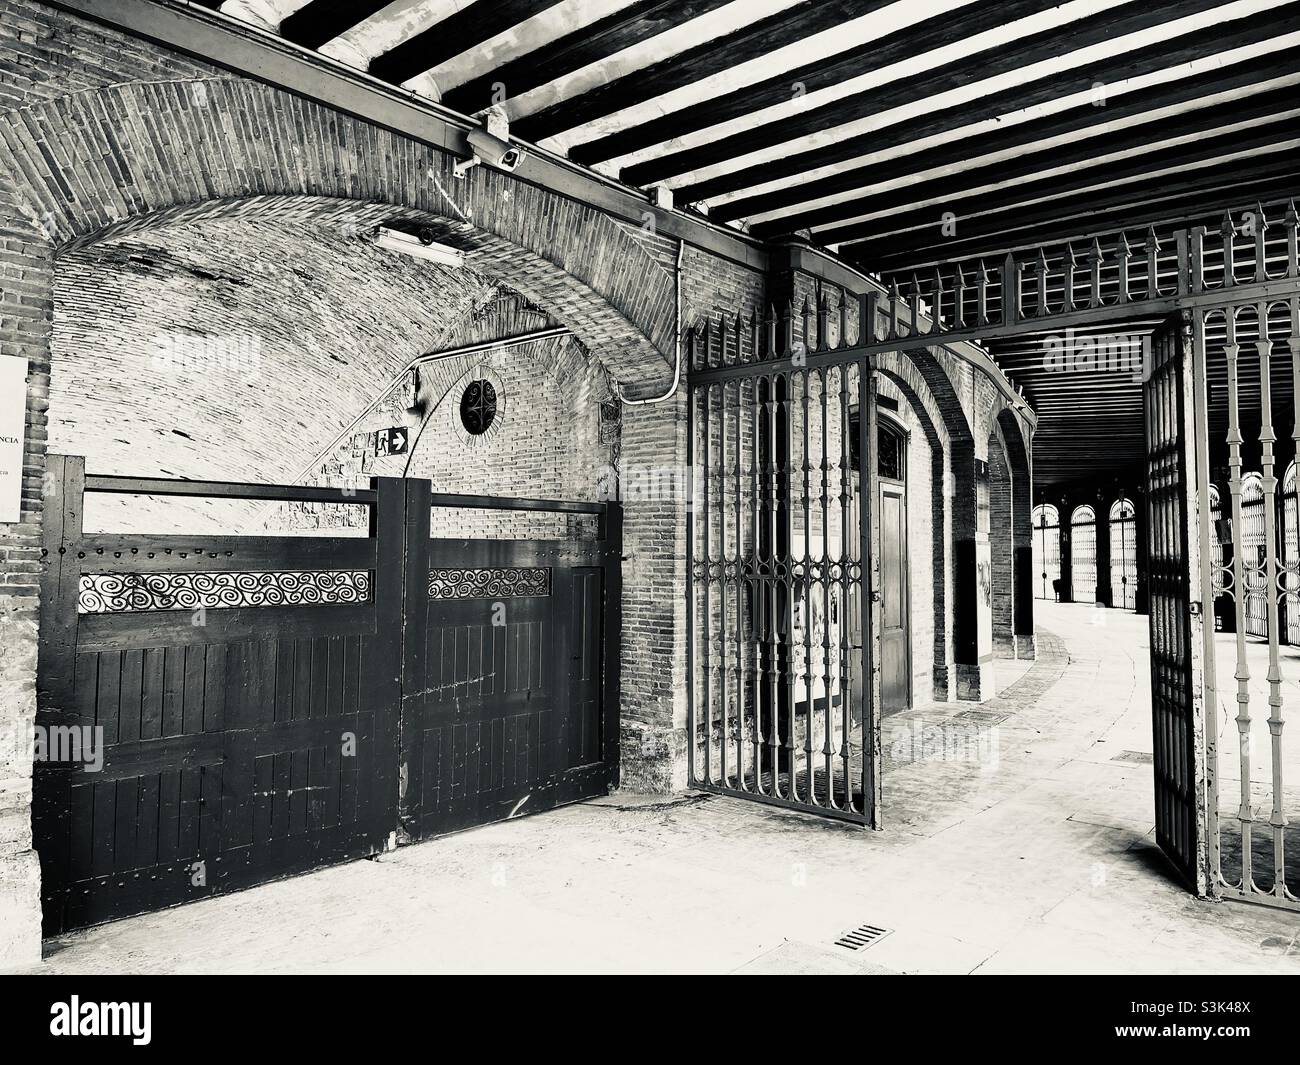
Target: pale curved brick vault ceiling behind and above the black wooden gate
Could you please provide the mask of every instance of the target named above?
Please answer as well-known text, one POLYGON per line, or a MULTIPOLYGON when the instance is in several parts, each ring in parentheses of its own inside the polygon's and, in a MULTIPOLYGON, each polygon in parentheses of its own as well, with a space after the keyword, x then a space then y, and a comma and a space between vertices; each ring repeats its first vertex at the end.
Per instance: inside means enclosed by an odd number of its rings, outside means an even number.
POLYGON ((49 447, 92 473, 291 481, 495 294, 300 222, 204 218, 66 252, 49 447))

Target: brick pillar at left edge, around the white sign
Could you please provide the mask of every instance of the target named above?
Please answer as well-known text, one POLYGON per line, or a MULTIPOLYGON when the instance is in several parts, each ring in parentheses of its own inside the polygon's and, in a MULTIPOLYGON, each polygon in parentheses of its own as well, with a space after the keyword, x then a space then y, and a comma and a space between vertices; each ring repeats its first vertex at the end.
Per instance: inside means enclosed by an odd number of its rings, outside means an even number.
POLYGON ((27 360, 22 511, 0 525, 0 969, 40 961, 40 865, 31 843, 40 518, 49 406, 53 252, 0 200, 0 354, 27 360))

